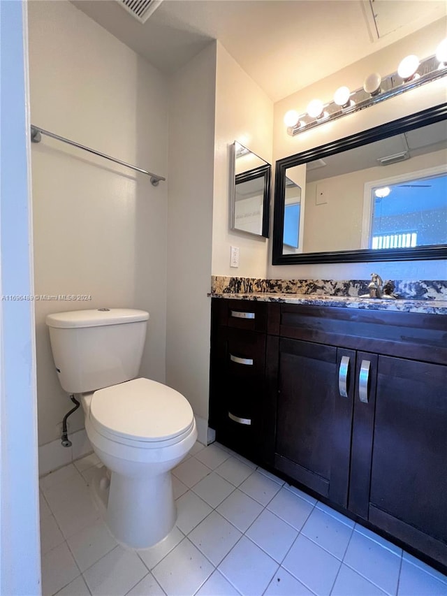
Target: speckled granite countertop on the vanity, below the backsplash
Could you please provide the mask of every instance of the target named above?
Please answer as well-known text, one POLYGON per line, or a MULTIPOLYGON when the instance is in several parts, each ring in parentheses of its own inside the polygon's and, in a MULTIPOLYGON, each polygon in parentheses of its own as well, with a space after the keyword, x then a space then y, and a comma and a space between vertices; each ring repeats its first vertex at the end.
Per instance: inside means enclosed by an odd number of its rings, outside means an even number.
POLYGON ((314 306, 337 306, 366 310, 389 310, 394 312, 419 312, 423 314, 447 314, 447 300, 414 300, 397 298, 359 298, 358 296, 325 296, 320 294, 298 294, 277 292, 221 293, 210 292, 211 298, 230 300, 259 300, 286 304, 314 306))

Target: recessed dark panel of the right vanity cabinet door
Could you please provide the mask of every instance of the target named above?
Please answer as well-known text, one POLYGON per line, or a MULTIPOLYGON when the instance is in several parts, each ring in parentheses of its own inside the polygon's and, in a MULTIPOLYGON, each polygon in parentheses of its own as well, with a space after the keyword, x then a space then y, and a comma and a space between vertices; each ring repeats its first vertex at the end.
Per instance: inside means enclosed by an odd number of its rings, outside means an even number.
POLYGON ((363 514, 447 565, 447 367, 379 356, 376 384, 363 514))

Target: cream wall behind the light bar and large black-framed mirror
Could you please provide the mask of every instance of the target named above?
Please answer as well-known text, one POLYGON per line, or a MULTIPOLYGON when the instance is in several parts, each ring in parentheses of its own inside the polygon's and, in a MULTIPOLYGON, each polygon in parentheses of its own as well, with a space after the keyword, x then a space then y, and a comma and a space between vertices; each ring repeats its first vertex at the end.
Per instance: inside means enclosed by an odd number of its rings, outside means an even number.
MULTIPOLYGON (((436 51, 437 44, 446 36, 446 19, 434 22, 415 34, 371 54, 355 64, 344 68, 328 78, 318 81, 300 92, 278 101, 274 105, 274 159, 281 159, 291 154, 324 145, 331 140, 349 136, 358 131, 379 126, 391 120, 411 115, 430 106, 437 106, 447 101, 446 81, 439 80, 411 92, 388 99, 376 106, 340 118, 335 122, 323 124, 307 133, 291 137, 286 132, 283 118, 291 109, 305 112, 312 99, 319 97, 330 101, 341 85, 351 89, 361 87, 364 78, 374 71, 383 76, 393 73, 397 64, 407 54, 416 53, 421 58, 436 51)), ((269 259, 271 263, 271 259, 269 259)), ((368 279, 371 263, 334 263, 330 265, 272 266, 268 268, 268 277, 283 279, 368 279)), ((382 277, 394 279, 445 279, 446 261, 399 261, 377 263, 382 277)))

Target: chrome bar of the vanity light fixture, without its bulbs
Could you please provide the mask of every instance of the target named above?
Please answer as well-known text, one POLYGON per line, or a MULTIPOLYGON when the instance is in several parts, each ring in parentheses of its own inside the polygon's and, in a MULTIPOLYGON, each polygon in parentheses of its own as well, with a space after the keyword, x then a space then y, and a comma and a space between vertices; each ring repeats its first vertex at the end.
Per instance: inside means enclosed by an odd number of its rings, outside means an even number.
POLYGON ((320 126, 326 122, 333 122, 348 114, 354 114, 355 112, 369 108, 369 106, 374 106, 376 103, 381 103, 381 101, 390 99, 390 97, 395 97, 410 91, 410 89, 416 89, 416 87, 421 87, 428 82, 445 77, 447 75, 447 66, 441 68, 438 68, 438 66, 439 62, 436 57, 431 56, 420 62, 418 68, 418 73, 420 74, 418 77, 404 82, 397 73, 388 75, 382 79, 381 91, 378 94, 370 96, 362 87, 356 89, 356 91, 351 93, 351 100, 354 102, 353 105, 341 108, 337 106, 335 101, 330 101, 324 106, 324 110, 327 112, 325 118, 311 119, 308 115, 300 116, 300 122, 295 126, 288 126, 287 132, 289 135, 295 136, 301 132, 309 131, 315 128, 315 126, 320 126))

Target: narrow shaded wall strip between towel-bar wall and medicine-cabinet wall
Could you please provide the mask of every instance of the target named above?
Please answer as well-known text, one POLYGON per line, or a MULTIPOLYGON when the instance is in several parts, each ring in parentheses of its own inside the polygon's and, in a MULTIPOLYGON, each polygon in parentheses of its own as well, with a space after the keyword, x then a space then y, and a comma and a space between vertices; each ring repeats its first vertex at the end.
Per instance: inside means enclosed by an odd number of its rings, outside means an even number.
POLYGON ((166 382, 185 395, 205 426, 215 87, 216 43, 208 45, 170 80, 166 382))

